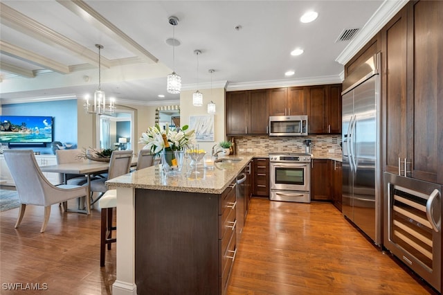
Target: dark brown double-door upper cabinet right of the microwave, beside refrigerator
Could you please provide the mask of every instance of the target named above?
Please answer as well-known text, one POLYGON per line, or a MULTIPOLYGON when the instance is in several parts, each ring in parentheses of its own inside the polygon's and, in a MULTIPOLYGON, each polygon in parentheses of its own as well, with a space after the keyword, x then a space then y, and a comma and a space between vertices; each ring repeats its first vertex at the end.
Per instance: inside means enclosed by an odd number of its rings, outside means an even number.
POLYGON ((309 134, 341 133, 341 84, 309 87, 309 134))

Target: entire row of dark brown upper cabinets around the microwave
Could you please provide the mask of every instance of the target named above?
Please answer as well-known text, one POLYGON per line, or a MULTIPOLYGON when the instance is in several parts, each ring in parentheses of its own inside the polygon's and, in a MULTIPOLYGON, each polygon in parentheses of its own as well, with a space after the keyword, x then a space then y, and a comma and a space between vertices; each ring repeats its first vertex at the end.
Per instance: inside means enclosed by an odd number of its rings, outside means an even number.
POLYGON ((269 134, 269 116, 308 115, 309 134, 341 134, 341 84, 226 93, 226 135, 269 134))

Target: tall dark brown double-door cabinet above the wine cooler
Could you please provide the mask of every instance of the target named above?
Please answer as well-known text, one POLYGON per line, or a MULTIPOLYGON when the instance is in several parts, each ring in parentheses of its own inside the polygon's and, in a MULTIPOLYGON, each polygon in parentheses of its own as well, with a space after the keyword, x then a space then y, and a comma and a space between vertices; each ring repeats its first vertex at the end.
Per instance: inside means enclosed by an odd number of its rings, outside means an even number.
POLYGON ((381 30, 383 170, 439 184, 442 13, 442 1, 411 1, 381 30))

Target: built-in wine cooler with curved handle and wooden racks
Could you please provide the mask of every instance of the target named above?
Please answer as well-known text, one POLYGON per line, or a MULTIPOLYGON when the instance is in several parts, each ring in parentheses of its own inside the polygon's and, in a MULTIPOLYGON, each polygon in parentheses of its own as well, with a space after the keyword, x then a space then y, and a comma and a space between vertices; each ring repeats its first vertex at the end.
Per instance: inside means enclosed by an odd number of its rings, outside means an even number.
POLYGON ((438 292, 442 186, 384 173, 383 245, 438 292))

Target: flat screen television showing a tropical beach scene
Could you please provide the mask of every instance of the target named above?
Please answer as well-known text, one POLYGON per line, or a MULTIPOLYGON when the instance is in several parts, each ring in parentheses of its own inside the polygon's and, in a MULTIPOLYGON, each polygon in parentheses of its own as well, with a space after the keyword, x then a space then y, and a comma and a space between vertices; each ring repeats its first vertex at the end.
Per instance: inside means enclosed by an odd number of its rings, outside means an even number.
POLYGON ((0 116, 0 143, 52 143, 53 117, 0 116))

